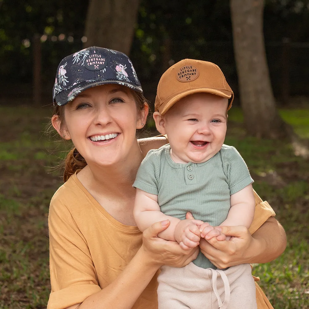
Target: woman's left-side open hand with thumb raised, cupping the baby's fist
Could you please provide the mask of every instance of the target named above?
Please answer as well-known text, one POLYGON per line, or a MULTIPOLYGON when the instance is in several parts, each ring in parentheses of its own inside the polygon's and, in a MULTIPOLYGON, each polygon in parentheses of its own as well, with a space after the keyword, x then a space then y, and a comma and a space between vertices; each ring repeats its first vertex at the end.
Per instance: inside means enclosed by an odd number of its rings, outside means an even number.
POLYGON ((183 267, 197 258, 199 247, 183 250, 176 241, 168 241, 158 237, 158 234, 169 226, 169 220, 156 222, 143 232, 142 250, 147 255, 149 263, 172 267, 183 267))

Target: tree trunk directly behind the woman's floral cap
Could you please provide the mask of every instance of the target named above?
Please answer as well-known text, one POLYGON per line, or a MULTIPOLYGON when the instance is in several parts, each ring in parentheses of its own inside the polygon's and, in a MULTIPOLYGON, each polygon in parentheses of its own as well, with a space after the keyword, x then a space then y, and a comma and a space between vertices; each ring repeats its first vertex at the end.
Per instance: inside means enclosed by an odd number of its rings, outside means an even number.
POLYGON ((139 0, 90 0, 84 47, 100 46, 129 54, 139 0))

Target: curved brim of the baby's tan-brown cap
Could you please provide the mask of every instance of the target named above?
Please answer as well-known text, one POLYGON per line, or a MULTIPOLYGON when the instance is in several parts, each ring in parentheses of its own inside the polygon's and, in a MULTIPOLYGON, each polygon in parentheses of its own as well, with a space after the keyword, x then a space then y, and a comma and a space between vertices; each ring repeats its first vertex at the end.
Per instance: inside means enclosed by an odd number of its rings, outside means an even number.
POLYGON ((161 115, 165 114, 177 101, 179 101, 180 99, 188 96, 188 95, 192 95, 194 93, 199 93, 199 92, 205 92, 205 93, 211 93, 214 95, 218 95, 221 96, 222 98, 226 98, 226 99, 231 99, 231 101, 229 102, 228 105, 228 109, 231 108, 233 99, 234 99, 234 94, 231 91, 224 91, 224 90, 218 90, 218 89, 214 89, 214 88, 196 88, 196 89, 189 89, 186 91, 183 91, 175 96, 173 96, 172 99, 170 99, 167 104, 165 104, 165 106, 163 108, 162 105, 159 106, 158 110, 160 112, 161 115))

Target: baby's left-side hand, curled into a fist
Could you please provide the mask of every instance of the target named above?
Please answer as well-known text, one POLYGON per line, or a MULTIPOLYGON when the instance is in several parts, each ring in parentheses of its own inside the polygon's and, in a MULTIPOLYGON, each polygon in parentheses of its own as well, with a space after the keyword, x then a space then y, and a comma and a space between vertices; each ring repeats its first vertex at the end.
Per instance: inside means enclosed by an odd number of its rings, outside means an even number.
POLYGON ((199 227, 203 224, 200 220, 181 220, 175 227, 174 237, 184 250, 190 250, 200 244, 201 233, 199 227))

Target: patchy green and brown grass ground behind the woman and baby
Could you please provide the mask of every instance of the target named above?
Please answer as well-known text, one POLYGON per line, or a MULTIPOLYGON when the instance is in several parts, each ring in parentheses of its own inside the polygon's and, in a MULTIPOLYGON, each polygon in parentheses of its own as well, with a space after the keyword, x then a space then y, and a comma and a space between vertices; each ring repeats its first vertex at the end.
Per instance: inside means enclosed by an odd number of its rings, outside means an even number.
MULTIPOLYGON (((46 308, 47 215, 61 185, 61 172, 49 167, 64 158, 70 145, 44 137, 48 108, 0 107, 0 113, 0 308, 46 308)), ((280 114, 309 137, 308 110, 282 109, 280 114)), ((309 309, 309 160, 294 156, 286 141, 246 137, 239 108, 231 110, 229 121, 226 143, 243 155, 254 188, 273 206, 288 235, 286 251, 254 265, 253 273, 275 309, 309 309)))

